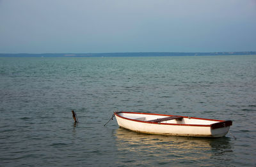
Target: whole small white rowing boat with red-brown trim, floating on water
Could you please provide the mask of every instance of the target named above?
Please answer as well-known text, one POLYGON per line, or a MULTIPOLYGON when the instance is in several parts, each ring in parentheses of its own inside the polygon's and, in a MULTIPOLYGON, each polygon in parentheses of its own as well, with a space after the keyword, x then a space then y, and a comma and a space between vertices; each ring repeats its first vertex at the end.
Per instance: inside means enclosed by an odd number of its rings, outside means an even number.
POLYGON ((172 136, 220 138, 225 136, 232 120, 202 119, 157 113, 114 112, 118 126, 131 131, 172 136))

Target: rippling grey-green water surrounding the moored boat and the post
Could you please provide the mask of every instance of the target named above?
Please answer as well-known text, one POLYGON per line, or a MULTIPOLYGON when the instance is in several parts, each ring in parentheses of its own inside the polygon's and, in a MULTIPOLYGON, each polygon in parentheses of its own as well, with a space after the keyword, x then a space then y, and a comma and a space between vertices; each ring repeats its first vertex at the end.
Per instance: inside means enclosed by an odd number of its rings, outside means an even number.
POLYGON ((0 113, 0 166, 256 166, 256 55, 0 57, 0 113), (142 134, 115 111, 233 125, 142 134))

